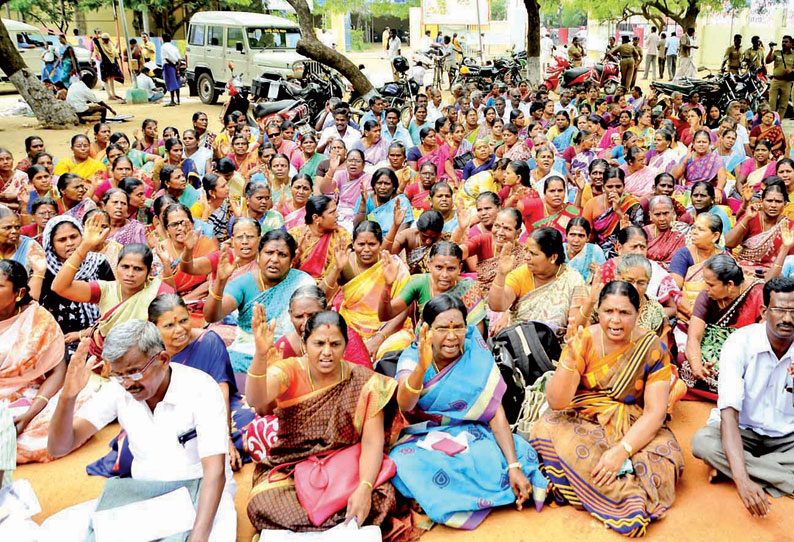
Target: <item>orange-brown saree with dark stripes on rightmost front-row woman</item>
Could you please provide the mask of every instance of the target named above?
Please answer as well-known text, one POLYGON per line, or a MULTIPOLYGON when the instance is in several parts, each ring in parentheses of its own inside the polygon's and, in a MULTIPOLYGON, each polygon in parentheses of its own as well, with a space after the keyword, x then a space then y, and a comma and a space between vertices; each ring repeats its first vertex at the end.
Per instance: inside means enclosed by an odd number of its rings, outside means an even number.
POLYGON ((555 500, 584 508, 625 536, 643 536, 675 500, 675 484, 684 457, 675 435, 662 426, 631 457, 633 475, 596 486, 591 472, 601 456, 621 441, 642 415, 647 385, 669 382, 669 354, 651 332, 599 359, 592 328, 571 341, 567 365, 583 370, 582 381, 567 410, 547 410, 535 424, 531 444, 541 457, 541 471, 551 480, 555 500))

